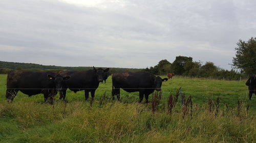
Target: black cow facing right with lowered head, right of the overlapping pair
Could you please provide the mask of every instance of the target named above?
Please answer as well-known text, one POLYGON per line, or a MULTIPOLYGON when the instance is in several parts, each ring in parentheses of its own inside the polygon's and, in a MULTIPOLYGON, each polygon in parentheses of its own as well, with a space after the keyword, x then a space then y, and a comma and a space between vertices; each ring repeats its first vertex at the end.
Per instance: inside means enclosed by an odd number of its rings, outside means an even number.
POLYGON ((148 103, 148 95, 156 91, 161 90, 162 81, 167 81, 168 78, 162 79, 159 76, 153 74, 139 72, 117 72, 112 75, 112 96, 115 100, 120 100, 120 88, 126 92, 139 92, 139 102, 142 101, 145 96, 146 103, 148 103))

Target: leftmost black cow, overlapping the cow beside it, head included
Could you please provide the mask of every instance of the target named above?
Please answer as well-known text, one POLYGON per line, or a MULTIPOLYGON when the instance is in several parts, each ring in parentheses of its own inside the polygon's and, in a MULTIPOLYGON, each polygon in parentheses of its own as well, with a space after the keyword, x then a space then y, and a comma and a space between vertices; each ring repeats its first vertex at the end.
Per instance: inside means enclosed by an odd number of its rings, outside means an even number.
POLYGON ((60 90, 68 78, 53 72, 11 71, 7 76, 6 99, 12 102, 20 91, 28 96, 44 94, 45 102, 53 104, 57 89, 60 90))

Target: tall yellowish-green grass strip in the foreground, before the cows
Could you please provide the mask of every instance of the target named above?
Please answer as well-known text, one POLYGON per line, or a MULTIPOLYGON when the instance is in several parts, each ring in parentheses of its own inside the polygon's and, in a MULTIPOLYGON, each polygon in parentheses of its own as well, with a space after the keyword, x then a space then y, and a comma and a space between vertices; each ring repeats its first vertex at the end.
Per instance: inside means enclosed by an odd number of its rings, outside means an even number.
POLYGON ((147 104, 75 101, 54 105, 20 100, 0 102, 0 142, 253 142, 254 116, 246 106, 209 113, 193 106, 183 118, 180 105, 172 114, 152 112, 147 104), (225 112, 225 113, 223 113, 225 112), (244 118, 241 118, 243 116, 244 118), (246 117, 246 118, 245 118, 246 117))

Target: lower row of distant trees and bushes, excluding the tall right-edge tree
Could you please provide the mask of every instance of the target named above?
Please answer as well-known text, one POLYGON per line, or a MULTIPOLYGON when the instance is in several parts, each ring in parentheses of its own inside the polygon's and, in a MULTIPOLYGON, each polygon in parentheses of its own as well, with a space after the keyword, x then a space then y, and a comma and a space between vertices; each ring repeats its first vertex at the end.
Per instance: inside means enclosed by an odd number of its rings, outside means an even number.
POLYGON ((187 56, 176 56, 173 63, 167 60, 161 60, 156 66, 145 68, 142 71, 164 75, 167 73, 175 73, 176 75, 189 76, 189 77, 204 77, 204 78, 218 78, 222 79, 237 79, 240 77, 247 77, 245 74, 240 73, 238 70, 231 69, 225 70, 217 67, 212 62, 195 62, 193 58, 187 56))

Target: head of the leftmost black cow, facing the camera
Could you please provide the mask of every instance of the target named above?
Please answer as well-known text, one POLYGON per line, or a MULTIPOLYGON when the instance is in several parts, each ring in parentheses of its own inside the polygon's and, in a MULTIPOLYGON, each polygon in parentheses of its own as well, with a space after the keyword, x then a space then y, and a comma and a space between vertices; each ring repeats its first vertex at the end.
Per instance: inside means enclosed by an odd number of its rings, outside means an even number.
POLYGON ((70 78, 70 76, 63 77, 60 74, 57 74, 56 76, 52 76, 51 74, 47 74, 47 76, 50 80, 54 81, 55 87, 58 91, 63 88, 63 86, 65 85, 65 81, 70 78))

